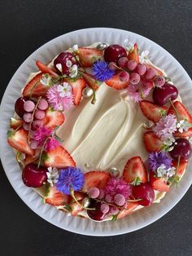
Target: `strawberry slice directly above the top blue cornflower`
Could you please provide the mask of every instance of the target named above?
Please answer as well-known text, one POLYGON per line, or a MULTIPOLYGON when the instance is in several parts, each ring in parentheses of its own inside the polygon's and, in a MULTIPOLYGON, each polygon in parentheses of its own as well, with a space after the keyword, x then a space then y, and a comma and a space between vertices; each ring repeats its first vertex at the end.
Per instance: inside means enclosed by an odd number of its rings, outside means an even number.
POLYGON ((96 60, 102 58, 103 52, 97 49, 80 47, 77 55, 79 56, 81 65, 85 68, 90 68, 96 60))

